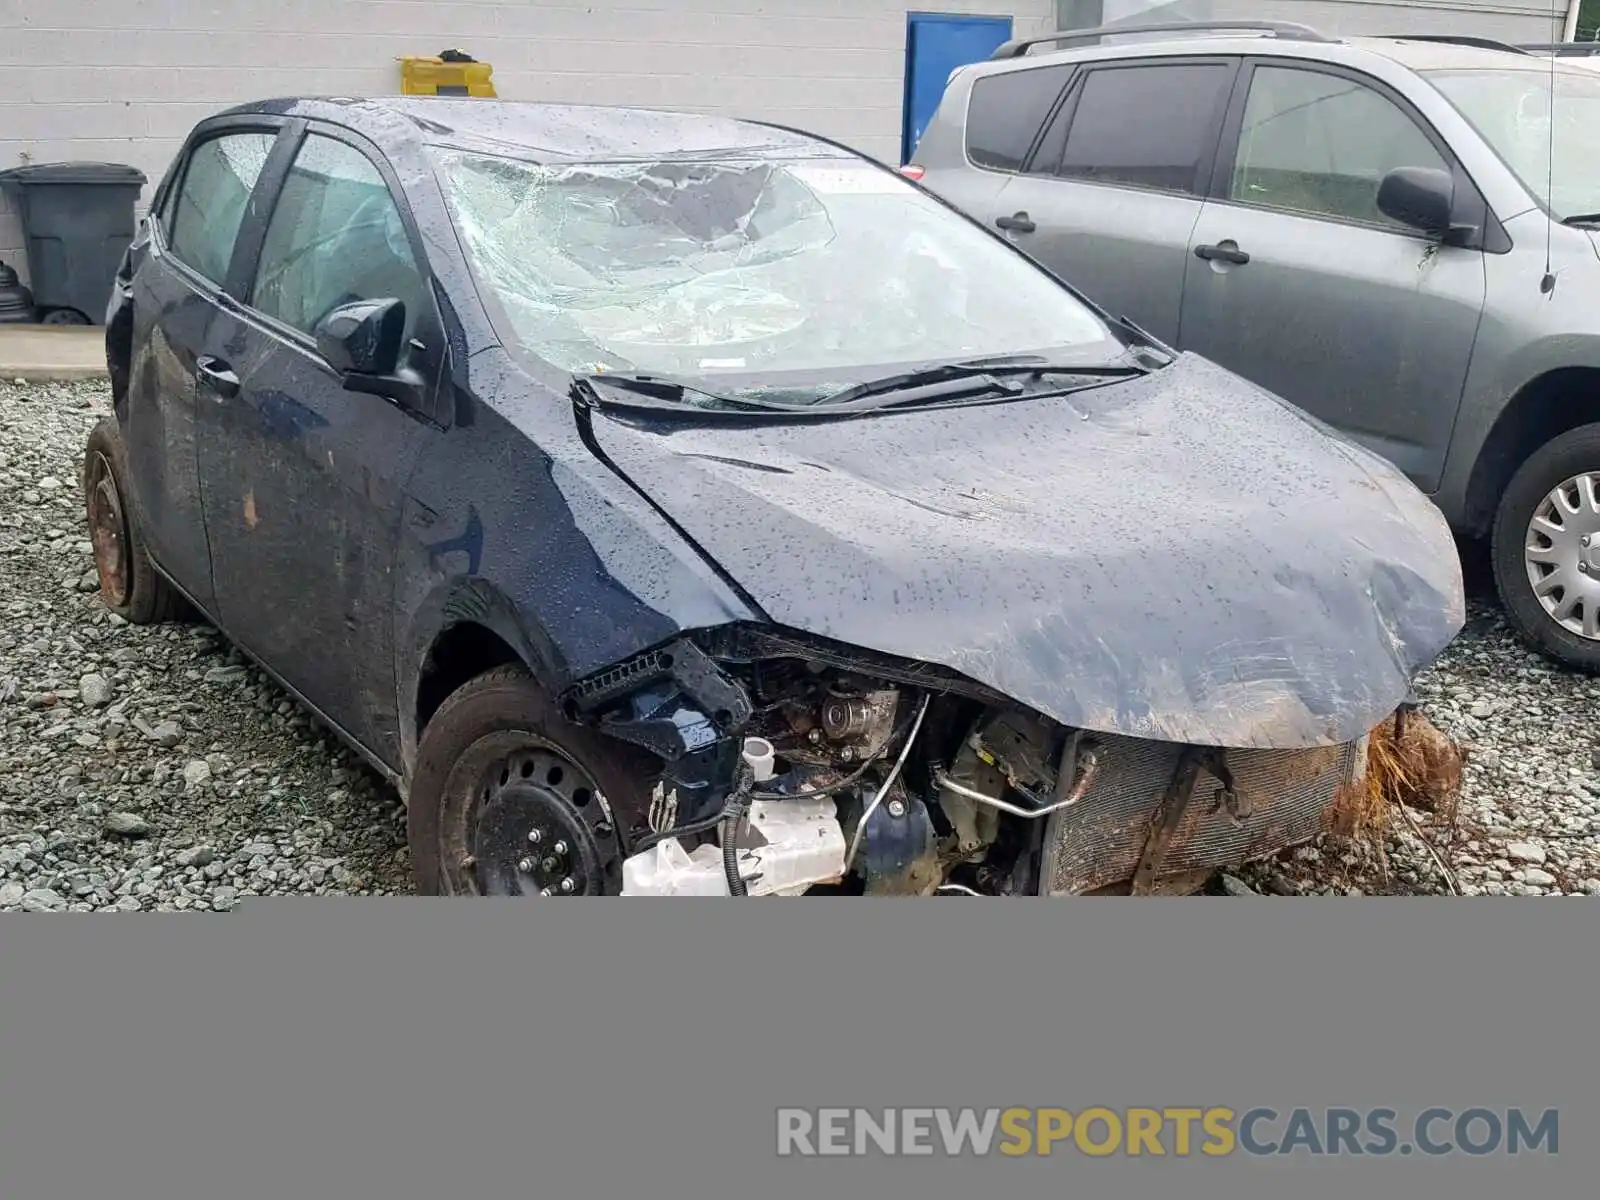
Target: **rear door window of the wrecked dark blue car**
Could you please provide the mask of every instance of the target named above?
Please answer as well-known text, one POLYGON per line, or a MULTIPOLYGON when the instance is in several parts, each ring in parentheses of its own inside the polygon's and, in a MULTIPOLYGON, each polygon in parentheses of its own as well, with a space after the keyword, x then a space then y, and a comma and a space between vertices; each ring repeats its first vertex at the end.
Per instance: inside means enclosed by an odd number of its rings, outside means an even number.
POLYGON ((275 133, 227 133, 202 142, 189 157, 173 205, 170 246, 178 261, 213 283, 227 280, 245 206, 274 141, 275 133))

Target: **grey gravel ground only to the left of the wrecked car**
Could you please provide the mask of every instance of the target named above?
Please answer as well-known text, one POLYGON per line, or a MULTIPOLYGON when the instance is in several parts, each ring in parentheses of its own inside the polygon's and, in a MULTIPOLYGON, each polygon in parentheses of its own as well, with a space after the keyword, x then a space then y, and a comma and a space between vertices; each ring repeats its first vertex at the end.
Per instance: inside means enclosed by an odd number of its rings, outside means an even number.
POLYGON ((0 909, 410 891, 398 797, 206 626, 94 594, 104 384, 0 382, 0 909))

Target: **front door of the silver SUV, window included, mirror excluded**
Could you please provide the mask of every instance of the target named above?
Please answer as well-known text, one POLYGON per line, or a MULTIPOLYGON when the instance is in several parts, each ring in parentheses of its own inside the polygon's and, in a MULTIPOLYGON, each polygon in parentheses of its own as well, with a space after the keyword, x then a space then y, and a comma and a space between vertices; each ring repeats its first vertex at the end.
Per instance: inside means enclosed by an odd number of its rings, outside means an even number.
POLYGON ((1246 64, 1214 198, 1194 229, 1178 344, 1438 486, 1485 299, 1478 248, 1378 210, 1398 166, 1451 171, 1438 136, 1381 83, 1283 59, 1246 64))

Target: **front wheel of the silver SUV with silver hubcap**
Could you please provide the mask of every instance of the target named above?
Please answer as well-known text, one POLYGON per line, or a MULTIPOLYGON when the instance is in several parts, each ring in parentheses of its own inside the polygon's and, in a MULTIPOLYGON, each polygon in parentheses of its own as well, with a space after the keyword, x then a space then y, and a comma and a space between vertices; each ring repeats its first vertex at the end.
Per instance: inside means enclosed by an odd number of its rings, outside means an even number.
POLYGON ((1600 424, 1534 451, 1494 517, 1494 582, 1534 648, 1600 674, 1600 424))

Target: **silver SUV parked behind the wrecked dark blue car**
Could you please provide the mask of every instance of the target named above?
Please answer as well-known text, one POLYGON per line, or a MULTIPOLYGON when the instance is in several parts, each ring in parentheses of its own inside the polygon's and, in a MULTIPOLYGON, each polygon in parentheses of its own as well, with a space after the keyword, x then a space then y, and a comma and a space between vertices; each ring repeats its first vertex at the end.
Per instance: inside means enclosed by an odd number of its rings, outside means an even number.
POLYGON ((1600 74, 1282 22, 1074 30, 957 70, 902 170, 1390 459, 1491 539, 1526 638, 1600 672, 1600 74))

